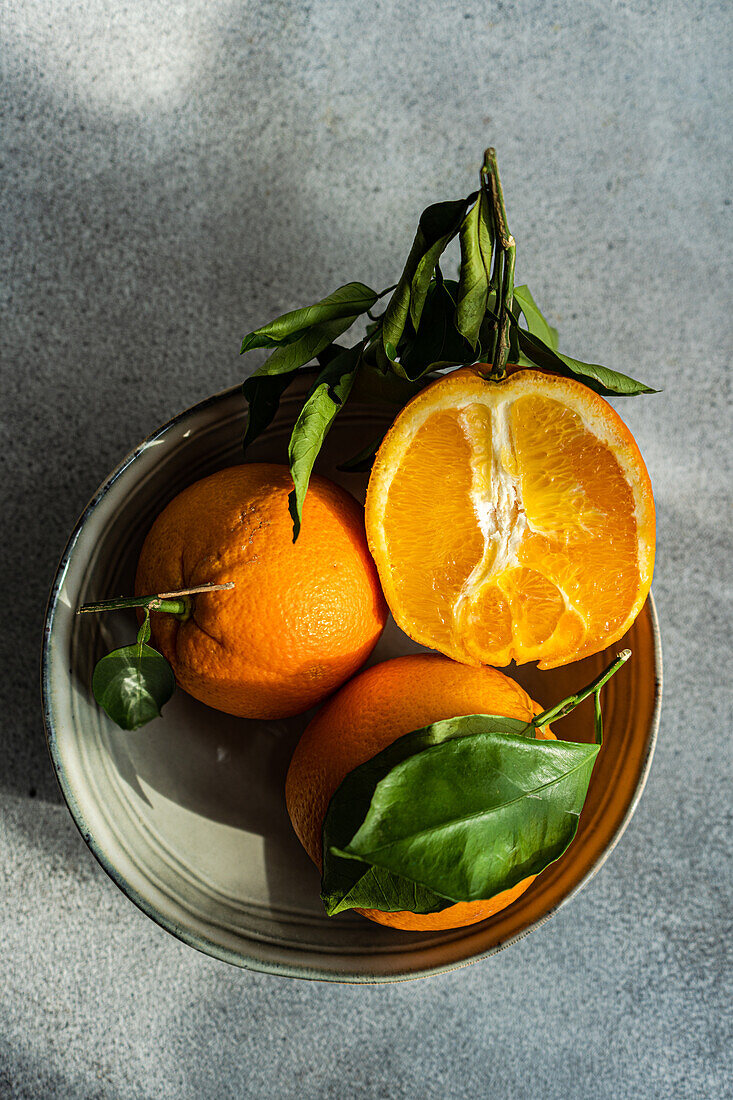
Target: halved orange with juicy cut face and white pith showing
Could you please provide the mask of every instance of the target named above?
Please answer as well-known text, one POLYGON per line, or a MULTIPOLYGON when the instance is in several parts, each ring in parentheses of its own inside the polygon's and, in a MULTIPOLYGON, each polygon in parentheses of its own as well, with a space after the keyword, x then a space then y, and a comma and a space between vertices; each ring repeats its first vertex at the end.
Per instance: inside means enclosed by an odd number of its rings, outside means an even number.
POLYGON ((628 428, 582 383, 462 367, 385 436, 366 535, 411 638, 466 664, 551 669, 604 649, 642 609, 654 496, 628 428))

